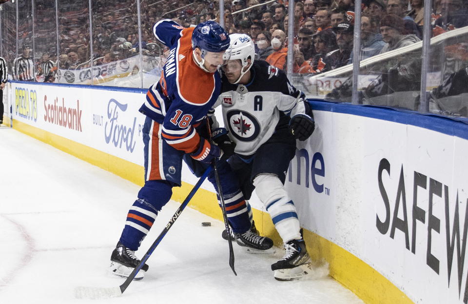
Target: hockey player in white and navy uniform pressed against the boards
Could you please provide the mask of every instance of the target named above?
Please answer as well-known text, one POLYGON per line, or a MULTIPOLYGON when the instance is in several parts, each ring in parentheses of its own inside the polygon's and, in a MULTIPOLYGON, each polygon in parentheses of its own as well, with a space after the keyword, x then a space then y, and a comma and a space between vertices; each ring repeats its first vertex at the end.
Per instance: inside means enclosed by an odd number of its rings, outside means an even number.
MULTIPOLYGON (((312 110, 283 71, 266 61, 254 62, 254 42, 249 36, 229 37, 232 53, 221 67, 222 94, 217 101, 235 143, 229 163, 246 199, 256 189, 284 242, 284 257, 272 265, 275 279, 300 279, 311 260, 284 182, 295 155, 295 140, 308 139, 314 130, 312 110)), ((223 148, 225 143, 218 144, 223 148)))

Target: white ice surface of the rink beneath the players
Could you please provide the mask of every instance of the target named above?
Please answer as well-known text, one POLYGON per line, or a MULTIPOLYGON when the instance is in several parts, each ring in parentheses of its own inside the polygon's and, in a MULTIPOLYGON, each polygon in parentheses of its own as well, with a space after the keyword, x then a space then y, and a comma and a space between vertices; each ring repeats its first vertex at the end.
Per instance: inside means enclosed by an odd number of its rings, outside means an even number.
MULTIPOLYGON (((77 286, 124 282, 107 267, 138 190, 16 130, 0 129, 0 303, 363 303, 330 277, 274 280, 270 265, 282 250, 252 255, 234 244, 234 276, 221 238, 224 224, 190 208, 148 260, 143 280, 118 298, 75 299, 77 286)), ((146 252, 177 206, 164 207, 137 255, 146 252)))

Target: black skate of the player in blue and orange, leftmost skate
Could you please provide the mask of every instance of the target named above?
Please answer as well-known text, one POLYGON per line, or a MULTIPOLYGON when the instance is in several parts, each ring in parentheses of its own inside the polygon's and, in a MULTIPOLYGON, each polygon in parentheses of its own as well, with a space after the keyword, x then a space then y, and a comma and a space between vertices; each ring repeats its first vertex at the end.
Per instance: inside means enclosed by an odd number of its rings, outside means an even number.
MULTIPOLYGON (((133 269, 137 267, 140 260, 135 256, 135 251, 128 249, 122 243, 118 242, 116 249, 112 251, 111 266, 109 271, 121 277, 128 277, 133 269)), ((134 280, 143 279, 144 272, 148 270, 148 265, 144 264, 138 271, 134 280)))

